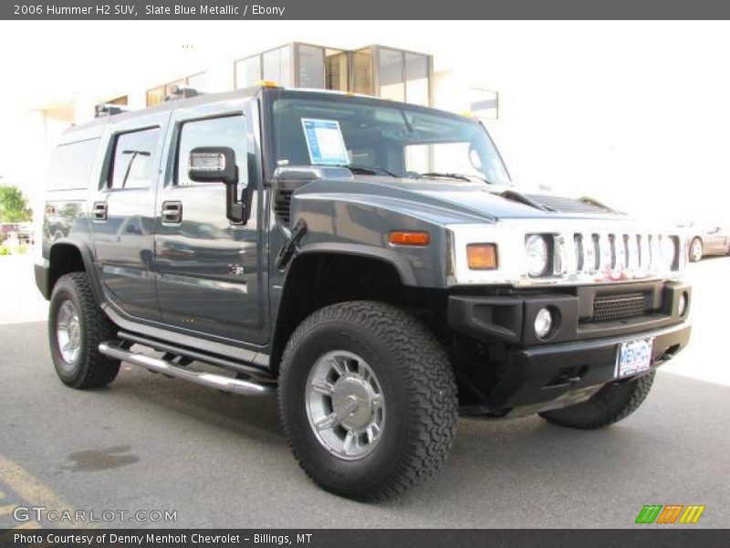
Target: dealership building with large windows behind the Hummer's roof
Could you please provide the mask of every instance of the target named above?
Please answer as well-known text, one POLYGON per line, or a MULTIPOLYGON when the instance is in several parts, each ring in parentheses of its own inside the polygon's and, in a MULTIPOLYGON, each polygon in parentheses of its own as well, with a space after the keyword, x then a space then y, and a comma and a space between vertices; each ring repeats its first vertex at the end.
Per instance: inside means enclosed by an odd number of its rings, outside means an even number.
POLYGON ((212 63, 172 79, 150 80, 144 87, 40 105, 36 113, 38 121, 47 123, 53 132, 59 122, 68 125, 89 121, 104 104, 137 110, 170 100, 175 87, 216 92, 251 87, 262 79, 283 87, 359 93, 449 111, 469 111, 480 118, 498 117, 498 94, 494 90, 464 82, 453 71, 434 72, 433 56, 427 53, 379 45, 343 49, 299 42, 225 64, 212 63))

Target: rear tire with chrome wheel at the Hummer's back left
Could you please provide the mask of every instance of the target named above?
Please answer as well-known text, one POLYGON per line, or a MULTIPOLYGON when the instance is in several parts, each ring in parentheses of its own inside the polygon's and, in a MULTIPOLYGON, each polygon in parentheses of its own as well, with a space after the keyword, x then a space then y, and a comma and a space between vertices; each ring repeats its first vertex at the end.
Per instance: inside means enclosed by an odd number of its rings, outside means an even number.
POLYGON ((116 338, 117 328, 94 300, 87 275, 74 272, 58 279, 48 309, 48 341, 58 378, 72 388, 109 385, 119 373, 120 361, 99 353, 99 342, 116 338), (72 310, 77 320, 71 315, 72 320, 65 321, 72 310), (64 325, 70 327, 64 330, 64 325), (65 344, 65 337, 76 343, 65 344))

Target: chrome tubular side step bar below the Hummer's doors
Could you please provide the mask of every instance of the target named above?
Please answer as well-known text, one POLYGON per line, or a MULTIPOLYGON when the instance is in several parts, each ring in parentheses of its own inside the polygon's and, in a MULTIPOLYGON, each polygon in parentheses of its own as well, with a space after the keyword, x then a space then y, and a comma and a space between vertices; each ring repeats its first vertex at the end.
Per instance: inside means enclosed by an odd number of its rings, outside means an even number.
POLYGON ((117 360, 122 360, 132 365, 139 365, 145 369, 149 369, 153 373, 162 373, 183 381, 189 381, 195 385, 207 386, 215 388, 223 392, 238 395, 274 395, 276 387, 274 385, 258 385, 250 381, 243 381, 226 377, 221 374, 201 373, 183 369, 175 364, 153 358, 143 353, 131 352, 119 346, 115 346, 110 342, 101 342, 99 344, 99 352, 110 356, 117 360))

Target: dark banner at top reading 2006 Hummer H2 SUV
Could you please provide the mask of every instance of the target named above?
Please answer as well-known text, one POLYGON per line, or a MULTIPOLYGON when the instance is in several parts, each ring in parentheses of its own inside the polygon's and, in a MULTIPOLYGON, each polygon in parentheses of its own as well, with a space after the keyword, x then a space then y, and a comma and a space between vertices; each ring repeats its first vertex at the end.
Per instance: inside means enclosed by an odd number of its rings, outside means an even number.
POLYGON ((720 0, 3 0, 5 20, 727 19, 720 0))

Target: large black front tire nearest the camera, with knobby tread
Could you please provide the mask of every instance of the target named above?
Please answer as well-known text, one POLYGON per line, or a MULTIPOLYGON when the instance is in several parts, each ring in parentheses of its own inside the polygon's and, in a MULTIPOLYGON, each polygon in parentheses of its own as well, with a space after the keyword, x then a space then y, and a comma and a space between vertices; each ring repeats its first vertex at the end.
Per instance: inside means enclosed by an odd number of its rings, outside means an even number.
MULTIPOLYGON (((357 411, 351 415, 359 416, 364 408, 369 416, 362 404, 367 398, 355 399, 357 411)), ((406 312, 374 301, 334 304, 309 316, 287 343, 279 373, 279 412, 289 446, 309 478, 340 496, 381 501, 431 476, 449 452, 458 415, 454 371, 442 345, 406 312), (310 389, 322 364, 338 363, 342 354, 345 367, 355 372, 332 381, 331 397, 310 389), (369 390, 372 385, 380 389, 372 400, 380 396, 382 414, 373 406, 370 415, 370 420, 382 421, 377 436, 370 441, 370 427, 362 439, 355 436, 356 427, 345 424, 350 416, 318 435, 311 398, 327 402, 329 397, 331 408, 325 413, 335 416, 343 379, 363 368, 371 370, 369 390), (353 458, 345 454, 350 435, 356 441, 349 448, 360 451, 353 458), (344 448, 338 453, 334 447, 340 443, 344 448)))

